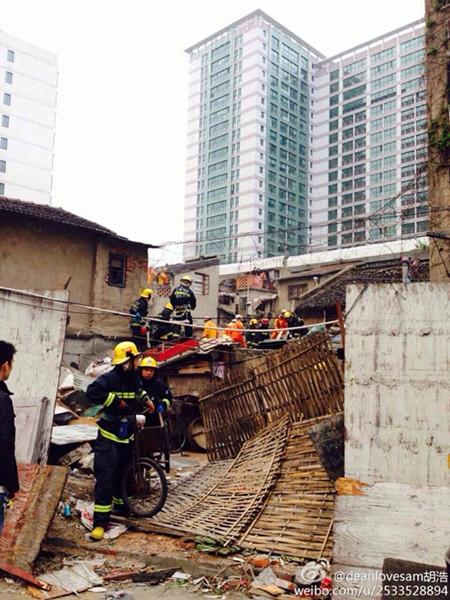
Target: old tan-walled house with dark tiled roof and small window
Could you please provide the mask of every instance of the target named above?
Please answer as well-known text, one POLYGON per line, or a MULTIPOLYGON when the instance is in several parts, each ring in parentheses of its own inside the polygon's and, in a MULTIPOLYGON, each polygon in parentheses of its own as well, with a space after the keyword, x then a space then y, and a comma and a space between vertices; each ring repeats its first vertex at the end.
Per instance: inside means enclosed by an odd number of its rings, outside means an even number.
MULTIPOLYGON (((72 302, 128 312, 149 247, 61 208, 0 197, 2 287, 67 289, 72 302)), ((66 354, 101 353, 127 334, 128 318, 71 306, 66 354)))

